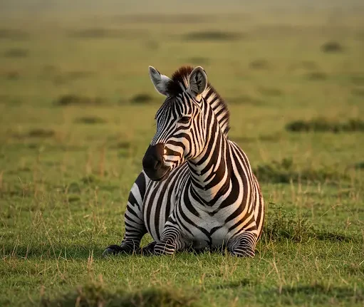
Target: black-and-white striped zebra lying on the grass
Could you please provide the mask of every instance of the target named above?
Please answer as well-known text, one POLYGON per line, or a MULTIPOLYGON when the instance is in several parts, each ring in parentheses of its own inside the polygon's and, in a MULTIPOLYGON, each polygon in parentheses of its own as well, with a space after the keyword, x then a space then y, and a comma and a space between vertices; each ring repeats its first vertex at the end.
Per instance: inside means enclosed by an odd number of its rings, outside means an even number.
POLYGON ((254 257, 264 199, 246 154, 228 138, 227 104, 201 66, 172 78, 152 66, 149 73, 165 102, 130 191, 123 241, 103 255, 221 248, 254 257), (140 248, 147 232, 154 241, 140 248))

